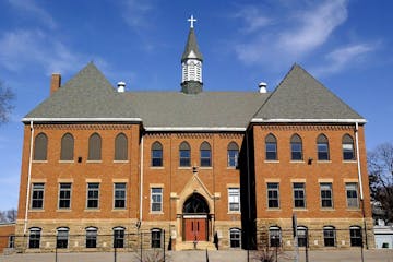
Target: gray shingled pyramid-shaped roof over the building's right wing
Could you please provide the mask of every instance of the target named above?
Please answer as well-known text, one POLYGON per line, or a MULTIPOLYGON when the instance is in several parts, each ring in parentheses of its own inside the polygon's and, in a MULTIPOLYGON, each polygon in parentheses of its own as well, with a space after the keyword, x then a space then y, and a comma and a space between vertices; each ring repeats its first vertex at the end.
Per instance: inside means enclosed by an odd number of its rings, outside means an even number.
POLYGON ((366 122, 300 66, 294 64, 252 122, 366 122))

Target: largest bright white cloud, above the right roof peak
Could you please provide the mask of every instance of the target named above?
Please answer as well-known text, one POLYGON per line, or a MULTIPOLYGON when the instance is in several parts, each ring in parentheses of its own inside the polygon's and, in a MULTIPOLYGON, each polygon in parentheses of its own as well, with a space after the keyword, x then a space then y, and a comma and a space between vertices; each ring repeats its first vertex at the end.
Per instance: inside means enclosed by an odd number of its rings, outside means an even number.
MULTIPOLYGON (((274 68, 291 63, 321 47, 334 29, 346 21, 348 14, 346 0, 318 3, 306 11, 299 11, 305 9, 305 4, 299 3, 297 10, 291 5, 290 9, 281 10, 276 17, 272 12, 270 21, 275 21, 274 24, 265 26, 261 23, 259 28, 265 27, 260 34, 255 33, 250 40, 235 45, 238 59, 247 64, 260 63, 274 68)), ((257 16, 261 13, 252 12, 257 16)))

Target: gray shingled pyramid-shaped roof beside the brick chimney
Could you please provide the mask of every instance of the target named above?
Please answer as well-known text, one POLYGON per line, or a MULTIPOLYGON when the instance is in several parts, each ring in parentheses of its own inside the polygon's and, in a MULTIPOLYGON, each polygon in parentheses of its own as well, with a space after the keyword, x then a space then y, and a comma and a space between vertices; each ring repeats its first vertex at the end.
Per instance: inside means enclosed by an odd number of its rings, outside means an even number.
POLYGON ((104 74, 88 63, 23 121, 141 121, 104 74))

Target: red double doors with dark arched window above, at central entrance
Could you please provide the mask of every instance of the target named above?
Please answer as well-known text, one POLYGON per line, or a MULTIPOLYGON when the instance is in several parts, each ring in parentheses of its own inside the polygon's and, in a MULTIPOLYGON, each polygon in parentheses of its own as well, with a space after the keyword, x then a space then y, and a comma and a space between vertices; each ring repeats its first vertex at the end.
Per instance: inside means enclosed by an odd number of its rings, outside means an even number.
POLYGON ((206 200, 199 193, 193 193, 183 204, 183 230, 184 241, 209 240, 209 205, 206 200))

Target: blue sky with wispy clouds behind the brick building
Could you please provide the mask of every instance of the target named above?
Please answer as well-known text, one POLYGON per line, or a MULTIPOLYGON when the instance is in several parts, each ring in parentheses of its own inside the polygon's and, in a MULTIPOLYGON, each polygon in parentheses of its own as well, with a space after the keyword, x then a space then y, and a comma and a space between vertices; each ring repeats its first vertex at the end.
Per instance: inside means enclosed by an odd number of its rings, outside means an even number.
POLYGON ((362 115, 368 150, 392 142, 393 2, 389 0, 0 0, 0 80, 16 94, 0 126, 0 210, 17 206, 23 124, 90 61, 116 85, 179 91, 193 14, 205 91, 273 91, 293 63, 362 115))

